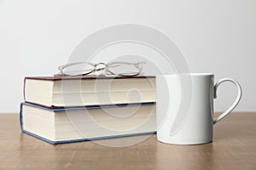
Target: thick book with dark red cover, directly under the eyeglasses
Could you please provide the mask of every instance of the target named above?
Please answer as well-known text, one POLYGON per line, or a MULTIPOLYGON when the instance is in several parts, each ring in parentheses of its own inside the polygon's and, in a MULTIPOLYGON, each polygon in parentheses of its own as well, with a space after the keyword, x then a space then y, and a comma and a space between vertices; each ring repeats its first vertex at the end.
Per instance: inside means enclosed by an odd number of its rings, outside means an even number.
POLYGON ((48 108, 155 102, 154 77, 25 77, 24 98, 48 108))

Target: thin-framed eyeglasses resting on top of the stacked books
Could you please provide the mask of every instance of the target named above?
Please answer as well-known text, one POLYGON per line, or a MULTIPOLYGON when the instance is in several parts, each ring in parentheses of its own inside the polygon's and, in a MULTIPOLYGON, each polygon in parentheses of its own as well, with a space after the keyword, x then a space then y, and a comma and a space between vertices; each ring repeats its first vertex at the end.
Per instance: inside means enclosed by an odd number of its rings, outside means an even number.
POLYGON ((67 65, 61 65, 58 67, 60 71, 55 74, 55 77, 65 76, 85 76, 96 71, 105 70, 106 75, 116 75, 122 77, 134 77, 142 74, 143 65, 146 62, 129 63, 123 61, 115 61, 105 63, 93 64, 90 62, 76 62, 69 63, 67 65))

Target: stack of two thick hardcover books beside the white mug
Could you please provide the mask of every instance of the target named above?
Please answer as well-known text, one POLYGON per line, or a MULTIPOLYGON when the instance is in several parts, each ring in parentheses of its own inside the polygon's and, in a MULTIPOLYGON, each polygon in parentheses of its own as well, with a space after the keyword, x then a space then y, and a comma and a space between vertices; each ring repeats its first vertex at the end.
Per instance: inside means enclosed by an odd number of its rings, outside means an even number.
POLYGON ((154 77, 26 77, 23 133, 50 144, 155 133, 154 77))

